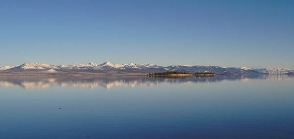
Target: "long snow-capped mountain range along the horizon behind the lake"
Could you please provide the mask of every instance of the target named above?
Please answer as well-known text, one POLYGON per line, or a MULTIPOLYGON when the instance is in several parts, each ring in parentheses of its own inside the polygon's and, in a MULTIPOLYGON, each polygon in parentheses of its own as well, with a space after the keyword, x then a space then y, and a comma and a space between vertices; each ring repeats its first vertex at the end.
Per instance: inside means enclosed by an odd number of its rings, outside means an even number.
POLYGON ((294 70, 284 68, 236 68, 236 67, 219 67, 219 66, 188 66, 188 65, 172 65, 158 66, 153 64, 112 64, 105 62, 102 64, 75 64, 75 65, 51 65, 46 63, 24 63, 20 66, 4 66, 0 67, 0 71, 45 71, 53 72, 107 72, 121 71, 134 73, 151 73, 165 71, 185 71, 185 72, 214 72, 216 74, 288 74, 294 70))

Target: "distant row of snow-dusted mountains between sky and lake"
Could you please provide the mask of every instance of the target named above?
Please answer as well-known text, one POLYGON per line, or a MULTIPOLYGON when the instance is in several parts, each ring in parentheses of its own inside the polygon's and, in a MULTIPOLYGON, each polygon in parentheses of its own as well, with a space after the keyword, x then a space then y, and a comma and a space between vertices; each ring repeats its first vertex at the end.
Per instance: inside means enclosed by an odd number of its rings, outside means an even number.
POLYGON ((171 70, 171 71, 190 71, 190 72, 199 72, 199 71, 210 71, 210 72, 235 72, 235 73, 263 73, 263 74, 285 74, 289 72, 294 72, 294 70, 289 70, 285 68, 224 68, 224 67, 217 67, 217 66, 157 66, 153 64, 112 64, 110 62, 105 62, 100 65, 95 64, 93 62, 89 64, 77 64, 77 65, 51 65, 46 63, 24 63, 21 66, 5 66, 0 67, 0 71, 5 70, 11 70, 11 71, 17 71, 17 70, 49 70, 50 72, 55 71, 66 71, 66 70, 141 70, 144 69, 144 71, 149 70, 171 70), (52 69, 52 70, 50 70, 52 69), (54 69, 54 70, 53 70, 54 69))

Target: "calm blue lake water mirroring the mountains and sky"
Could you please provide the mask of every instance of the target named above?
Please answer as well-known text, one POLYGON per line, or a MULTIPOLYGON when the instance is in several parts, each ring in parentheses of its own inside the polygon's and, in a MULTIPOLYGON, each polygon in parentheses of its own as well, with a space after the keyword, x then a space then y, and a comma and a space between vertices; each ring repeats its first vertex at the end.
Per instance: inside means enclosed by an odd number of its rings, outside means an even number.
POLYGON ((294 139, 294 76, 0 78, 0 139, 94 138, 294 139))

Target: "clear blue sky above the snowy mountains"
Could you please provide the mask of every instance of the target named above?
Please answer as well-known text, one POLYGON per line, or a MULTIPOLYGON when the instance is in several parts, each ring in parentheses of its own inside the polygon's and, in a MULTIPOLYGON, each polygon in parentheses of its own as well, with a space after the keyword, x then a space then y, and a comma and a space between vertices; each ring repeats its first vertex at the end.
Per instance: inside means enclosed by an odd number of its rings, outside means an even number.
POLYGON ((294 69, 294 0, 1 0, 0 67, 25 62, 294 69))

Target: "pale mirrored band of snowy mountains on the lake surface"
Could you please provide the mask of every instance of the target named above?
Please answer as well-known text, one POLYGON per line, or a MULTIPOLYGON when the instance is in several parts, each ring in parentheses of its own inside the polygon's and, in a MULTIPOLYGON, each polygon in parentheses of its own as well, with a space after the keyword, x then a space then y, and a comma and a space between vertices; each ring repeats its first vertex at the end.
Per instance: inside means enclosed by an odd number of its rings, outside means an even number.
POLYGON ((149 76, 99 76, 99 77, 0 77, 0 85, 22 87, 24 89, 44 89, 53 86, 74 86, 94 88, 102 86, 110 89, 114 86, 152 86, 163 82, 169 83, 217 83, 225 80, 248 81, 251 79, 287 80, 290 75, 216 75, 190 77, 149 77, 149 76))

